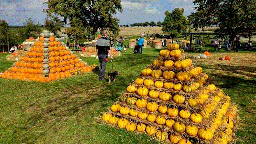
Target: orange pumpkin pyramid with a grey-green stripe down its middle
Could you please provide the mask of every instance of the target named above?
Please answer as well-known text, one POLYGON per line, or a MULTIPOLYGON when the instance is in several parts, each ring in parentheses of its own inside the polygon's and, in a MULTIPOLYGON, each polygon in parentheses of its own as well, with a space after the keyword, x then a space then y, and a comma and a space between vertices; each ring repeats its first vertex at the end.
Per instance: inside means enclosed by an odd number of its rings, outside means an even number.
POLYGON ((28 49, 25 56, 6 70, 1 77, 29 81, 49 82, 91 71, 88 66, 57 40, 53 33, 44 30, 41 37, 28 49))

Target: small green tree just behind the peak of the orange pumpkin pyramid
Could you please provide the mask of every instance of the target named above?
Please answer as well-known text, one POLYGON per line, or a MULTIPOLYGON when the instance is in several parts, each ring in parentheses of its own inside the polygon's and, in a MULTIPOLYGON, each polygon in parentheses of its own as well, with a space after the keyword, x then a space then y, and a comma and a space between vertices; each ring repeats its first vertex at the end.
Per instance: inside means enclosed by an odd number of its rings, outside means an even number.
POLYGON ((48 16, 48 18, 45 19, 44 28, 49 30, 51 33, 57 35, 58 31, 61 31, 61 27, 64 27, 64 22, 61 21, 58 17, 48 16))

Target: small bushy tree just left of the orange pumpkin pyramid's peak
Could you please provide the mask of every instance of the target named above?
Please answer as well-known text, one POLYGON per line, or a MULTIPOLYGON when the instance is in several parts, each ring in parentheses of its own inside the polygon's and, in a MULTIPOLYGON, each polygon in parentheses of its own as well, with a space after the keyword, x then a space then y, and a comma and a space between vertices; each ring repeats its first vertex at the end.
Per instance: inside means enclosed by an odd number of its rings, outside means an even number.
POLYGON ((24 28, 21 29, 21 37, 23 37, 24 40, 28 39, 29 37, 36 38, 41 32, 41 25, 39 23, 35 24, 35 22, 30 18, 26 20, 24 23, 24 28))

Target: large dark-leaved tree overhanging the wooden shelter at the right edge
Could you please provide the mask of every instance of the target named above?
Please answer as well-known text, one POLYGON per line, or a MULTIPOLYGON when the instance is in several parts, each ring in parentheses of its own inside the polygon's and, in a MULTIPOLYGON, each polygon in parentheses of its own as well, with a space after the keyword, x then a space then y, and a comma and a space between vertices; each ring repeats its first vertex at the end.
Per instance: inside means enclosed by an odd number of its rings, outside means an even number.
POLYGON ((195 0, 189 16, 194 28, 217 26, 217 33, 251 36, 256 31, 256 0, 195 0))

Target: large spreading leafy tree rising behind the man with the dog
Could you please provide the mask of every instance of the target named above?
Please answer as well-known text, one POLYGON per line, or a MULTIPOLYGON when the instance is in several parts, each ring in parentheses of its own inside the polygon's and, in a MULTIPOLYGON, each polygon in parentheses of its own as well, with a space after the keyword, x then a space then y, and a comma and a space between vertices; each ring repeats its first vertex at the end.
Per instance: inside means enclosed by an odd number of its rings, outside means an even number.
POLYGON ((71 27, 81 26, 90 35, 95 35, 98 29, 108 29, 114 34, 119 31, 119 19, 113 15, 116 10, 122 12, 121 0, 48 0, 45 3, 48 15, 59 15, 65 23, 69 19, 71 27))

